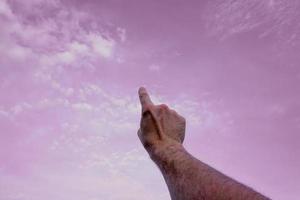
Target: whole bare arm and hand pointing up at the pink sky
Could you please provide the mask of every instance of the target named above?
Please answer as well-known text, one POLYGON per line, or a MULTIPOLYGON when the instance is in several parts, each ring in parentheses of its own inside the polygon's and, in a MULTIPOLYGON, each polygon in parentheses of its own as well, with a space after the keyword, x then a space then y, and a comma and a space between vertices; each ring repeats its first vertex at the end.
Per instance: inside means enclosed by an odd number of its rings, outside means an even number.
POLYGON ((183 147, 185 119, 165 104, 154 105, 144 87, 138 93, 138 137, 160 169, 172 200, 269 199, 189 154, 183 147))

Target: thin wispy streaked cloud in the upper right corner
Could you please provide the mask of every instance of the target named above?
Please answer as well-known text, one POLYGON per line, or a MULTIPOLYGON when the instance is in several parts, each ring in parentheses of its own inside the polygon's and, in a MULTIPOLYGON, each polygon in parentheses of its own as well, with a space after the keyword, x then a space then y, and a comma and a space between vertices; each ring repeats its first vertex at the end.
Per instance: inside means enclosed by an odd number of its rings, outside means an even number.
POLYGON ((298 1, 212 1, 203 12, 207 31, 221 40, 254 31, 258 38, 275 36, 274 44, 299 44, 297 21, 298 1), (249 9, 251 8, 251 9, 249 9))

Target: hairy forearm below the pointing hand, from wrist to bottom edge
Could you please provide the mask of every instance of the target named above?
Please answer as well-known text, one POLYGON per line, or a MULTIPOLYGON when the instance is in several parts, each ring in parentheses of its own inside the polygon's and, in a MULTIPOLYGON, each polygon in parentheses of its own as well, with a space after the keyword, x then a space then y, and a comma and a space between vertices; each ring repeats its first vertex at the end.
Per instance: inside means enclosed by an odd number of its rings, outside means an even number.
POLYGON ((225 176, 172 143, 149 152, 161 170, 172 200, 268 199, 225 176))

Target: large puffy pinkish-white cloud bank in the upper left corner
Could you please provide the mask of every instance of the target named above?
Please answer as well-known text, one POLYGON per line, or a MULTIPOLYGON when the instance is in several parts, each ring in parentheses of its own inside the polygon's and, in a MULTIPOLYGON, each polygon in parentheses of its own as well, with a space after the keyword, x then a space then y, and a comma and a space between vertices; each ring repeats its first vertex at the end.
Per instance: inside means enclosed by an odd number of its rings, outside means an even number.
MULTIPOLYGON (((96 23, 87 13, 66 8, 59 0, 2 1, 0 14, 5 16, 0 24, 6 27, 1 31, 3 64, 31 61, 42 67, 90 66, 112 58, 117 45, 109 33, 82 25, 96 23)), ((125 40, 125 29, 116 27, 115 32, 125 40)))

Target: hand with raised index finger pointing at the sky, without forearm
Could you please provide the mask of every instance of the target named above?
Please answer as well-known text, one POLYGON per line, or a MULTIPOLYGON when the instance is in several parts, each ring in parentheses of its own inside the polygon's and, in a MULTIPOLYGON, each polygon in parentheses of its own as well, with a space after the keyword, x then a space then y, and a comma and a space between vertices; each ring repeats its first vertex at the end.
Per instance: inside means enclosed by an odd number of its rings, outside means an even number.
POLYGON ((182 144, 185 119, 167 105, 154 105, 144 87, 139 89, 142 117, 138 136, 147 151, 169 143, 182 144))

